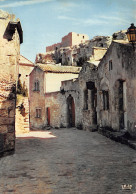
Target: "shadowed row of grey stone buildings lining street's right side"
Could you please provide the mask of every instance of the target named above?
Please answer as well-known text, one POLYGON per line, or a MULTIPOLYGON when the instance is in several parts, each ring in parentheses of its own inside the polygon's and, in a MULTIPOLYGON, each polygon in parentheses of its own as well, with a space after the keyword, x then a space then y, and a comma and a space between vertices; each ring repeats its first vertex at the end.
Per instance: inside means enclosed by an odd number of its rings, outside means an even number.
POLYGON ((64 126, 71 115, 72 126, 84 130, 125 130, 136 136, 134 48, 128 41, 115 40, 97 62, 85 63, 76 81, 62 82, 64 126))

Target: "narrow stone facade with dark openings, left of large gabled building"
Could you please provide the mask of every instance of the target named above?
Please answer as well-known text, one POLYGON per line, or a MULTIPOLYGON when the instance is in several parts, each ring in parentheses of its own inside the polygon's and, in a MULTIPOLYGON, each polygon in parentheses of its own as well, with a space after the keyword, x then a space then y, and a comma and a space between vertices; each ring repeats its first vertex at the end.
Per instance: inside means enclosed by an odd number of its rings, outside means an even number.
POLYGON ((83 129, 89 131, 92 131, 97 128, 97 118, 96 122, 94 122, 97 104, 95 104, 95 107, 92 107, 92 95, 93 90, 96 88, 96 80, 96 66, 91 63, 85 63, 79 74, 80 109, 82 115, 83 129), (92 86, 90 86, 90 84, 92 86))

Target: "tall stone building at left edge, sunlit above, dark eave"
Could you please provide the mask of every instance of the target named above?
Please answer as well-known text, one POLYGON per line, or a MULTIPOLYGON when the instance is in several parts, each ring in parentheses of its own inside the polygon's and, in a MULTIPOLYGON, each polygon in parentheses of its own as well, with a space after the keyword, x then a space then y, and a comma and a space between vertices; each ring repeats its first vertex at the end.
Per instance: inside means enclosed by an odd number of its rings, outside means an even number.
POLYGON ((16 84, 23 32, 14 15, 0 10, 0 155, 15 148, 16 84))

